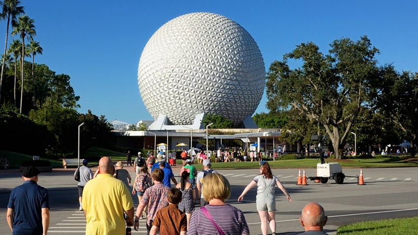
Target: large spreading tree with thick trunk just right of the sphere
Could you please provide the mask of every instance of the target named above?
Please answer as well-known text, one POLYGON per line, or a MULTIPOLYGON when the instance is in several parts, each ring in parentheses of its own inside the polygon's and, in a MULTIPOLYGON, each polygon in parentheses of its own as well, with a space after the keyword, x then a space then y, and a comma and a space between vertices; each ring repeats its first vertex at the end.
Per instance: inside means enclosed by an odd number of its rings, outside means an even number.
POLYGON ((274 62, 267 75, 267 107, 272 111, 294 109, 318 123, 328 134, 337 159, 362 105, 367 103, 370 83, 378 74, 375 55, 367 36, 331 43, 329 55, 313 42, 302 43, 274 62), (291 69, 288 59, 301 60, 291 69))

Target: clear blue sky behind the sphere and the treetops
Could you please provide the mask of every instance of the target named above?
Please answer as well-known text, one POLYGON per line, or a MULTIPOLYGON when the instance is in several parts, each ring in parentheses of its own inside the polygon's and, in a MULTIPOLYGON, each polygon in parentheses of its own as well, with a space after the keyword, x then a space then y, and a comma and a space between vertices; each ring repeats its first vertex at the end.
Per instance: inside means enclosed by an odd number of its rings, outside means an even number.
MULTIPOLYGON (((242 25, 255 39, 266 71, 296 45, 312 41, 327 54, 342 37, 367 35, 379 63, 418 72, 418 3, 411 0, 21 0, 35 20, 43 54, 35 63, 70 75, 78 109, 108 121, 152 120, 138 89, 142 49, 177 16, 212 12, 242 25)), ((5 22, 0 23, 4 35, 5 22), (2 25, 2 26, 1 26, 2 25)), ((9 40, 11 41, 11 39, 9 40)), ((268 112, 265 96, 255 111, 268 112)))

